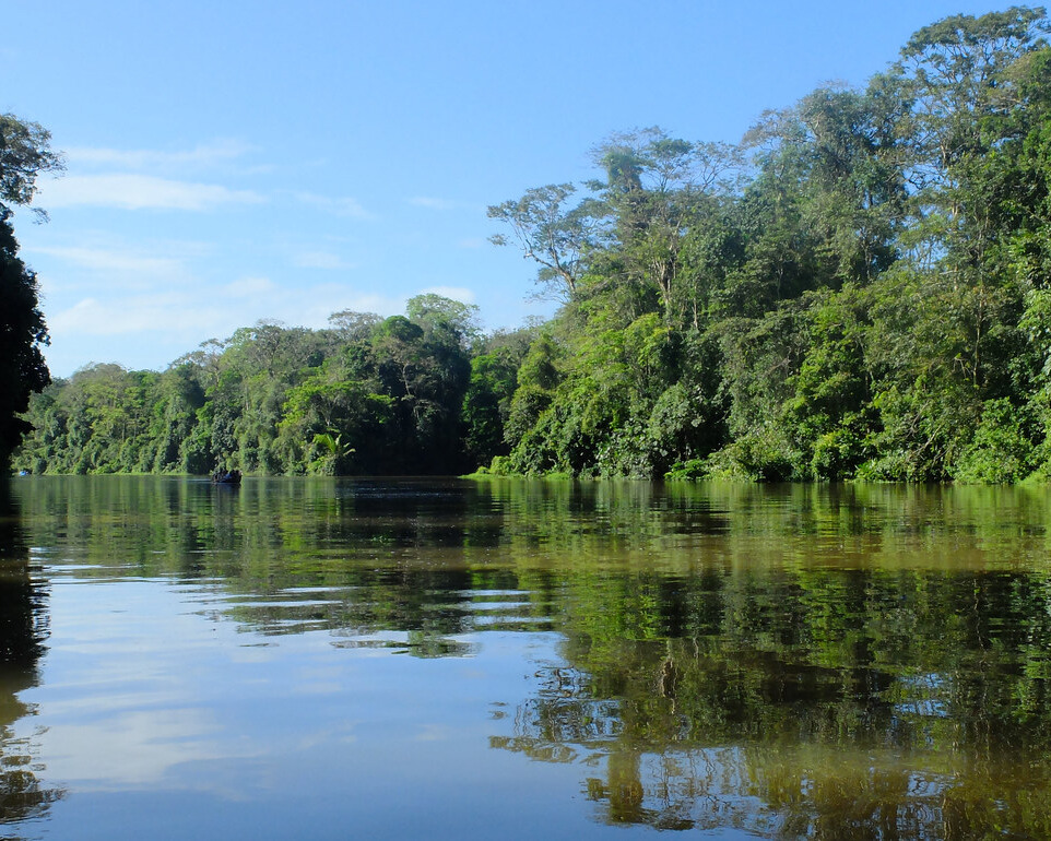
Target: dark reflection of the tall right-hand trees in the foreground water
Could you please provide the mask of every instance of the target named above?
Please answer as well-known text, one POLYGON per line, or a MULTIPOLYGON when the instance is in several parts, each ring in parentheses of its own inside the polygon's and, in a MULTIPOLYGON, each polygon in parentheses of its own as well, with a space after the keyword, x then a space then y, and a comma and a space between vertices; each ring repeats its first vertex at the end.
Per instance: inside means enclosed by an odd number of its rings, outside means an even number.
POLYGON ((812 570, 683 579, 668 601, 661 577, 582 578, 565 663, 492 744, 592 767, 611 822, 1049 837, 1047 583, 812 570))

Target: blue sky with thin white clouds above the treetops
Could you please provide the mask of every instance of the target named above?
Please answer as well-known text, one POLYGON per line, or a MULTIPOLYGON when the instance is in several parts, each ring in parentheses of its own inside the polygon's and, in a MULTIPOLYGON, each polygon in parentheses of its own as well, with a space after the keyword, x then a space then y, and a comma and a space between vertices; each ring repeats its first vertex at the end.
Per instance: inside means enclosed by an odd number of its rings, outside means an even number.
POLYGON ((736 141, 765 108, 863 84, 919 27, 1005 7, 8 0, 0 111, 67 156, 37 200, 51 221, 15 220, 51 371, 163 369, 260 319, 422 292, 489 329, 546 316, 487 205, 593 177, 613 132, 736 141))

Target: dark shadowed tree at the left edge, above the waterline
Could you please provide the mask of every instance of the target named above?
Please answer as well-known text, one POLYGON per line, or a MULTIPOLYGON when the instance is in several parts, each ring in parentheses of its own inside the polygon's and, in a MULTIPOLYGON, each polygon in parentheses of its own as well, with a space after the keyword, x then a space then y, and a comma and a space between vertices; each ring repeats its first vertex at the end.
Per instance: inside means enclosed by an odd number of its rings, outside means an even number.
MULTIPOLYGON (((47 325, 37 298, 36 275, 19 258, 11 225, 12 205, 26 205, 36 192, 36 177, 59 170, 62 162, 50 150, 51 135, 35 122, 0 115, 0 472, 29 425, 17 415, 29 394, 50 381, 42 346, 47 325)), ((42 218, 46 214, 35 211, 42 218)))

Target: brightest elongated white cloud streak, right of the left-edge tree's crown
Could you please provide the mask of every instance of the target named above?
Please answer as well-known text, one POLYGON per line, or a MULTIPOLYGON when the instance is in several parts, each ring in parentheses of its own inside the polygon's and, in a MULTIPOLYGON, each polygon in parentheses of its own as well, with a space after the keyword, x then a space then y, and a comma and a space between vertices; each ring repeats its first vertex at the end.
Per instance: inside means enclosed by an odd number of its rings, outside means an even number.
POLYGON ((51 179, 40 186, 39 204, 52 208, 95 206, 122 210, 209 211, 229 204, 261 204, 251 190, 147 175, 78 175, 51 179))

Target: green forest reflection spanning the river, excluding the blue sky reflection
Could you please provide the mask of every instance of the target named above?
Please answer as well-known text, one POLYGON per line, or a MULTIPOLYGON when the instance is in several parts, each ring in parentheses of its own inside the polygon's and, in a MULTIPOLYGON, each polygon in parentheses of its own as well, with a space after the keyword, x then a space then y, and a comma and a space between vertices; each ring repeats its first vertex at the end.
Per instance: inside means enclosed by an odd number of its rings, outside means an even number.
POLYGON ((200 582, 263 637, 446 658, 494 629, 557 631, 559 661, 491 746, 579 763, 601 821, 1051 837, 1042 490, 12 487, 51 575, 200 582))

